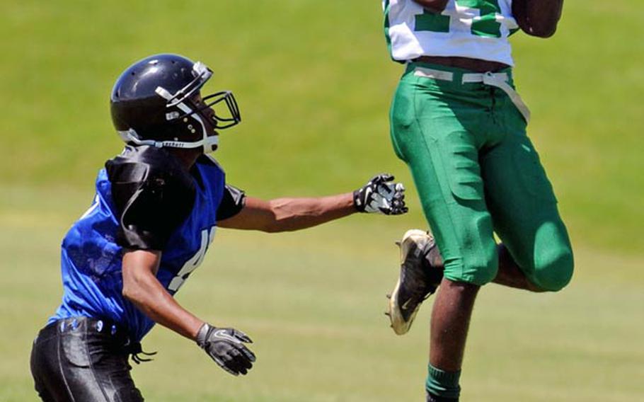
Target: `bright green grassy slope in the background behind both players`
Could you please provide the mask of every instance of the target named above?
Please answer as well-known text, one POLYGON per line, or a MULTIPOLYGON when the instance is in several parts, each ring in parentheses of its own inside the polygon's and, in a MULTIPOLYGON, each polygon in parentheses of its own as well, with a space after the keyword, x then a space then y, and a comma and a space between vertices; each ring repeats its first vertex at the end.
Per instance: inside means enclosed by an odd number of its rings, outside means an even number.
MULTIPOLYGON (((531 137, 573 241, 631 254, 644 250, 638 7, 567 1, 551 40, 513 38, 531 137)), ((3 13, 0 183, 90 188, 121 147, 113 81, 155 52, 202 59, 210 88, 234 90, 244 121, 222 134, 217 158, 253 195, 332 193, 384 170, 411 183, 389 144, 401 67, 386 54, 378 1, 32 0, 3 13)))

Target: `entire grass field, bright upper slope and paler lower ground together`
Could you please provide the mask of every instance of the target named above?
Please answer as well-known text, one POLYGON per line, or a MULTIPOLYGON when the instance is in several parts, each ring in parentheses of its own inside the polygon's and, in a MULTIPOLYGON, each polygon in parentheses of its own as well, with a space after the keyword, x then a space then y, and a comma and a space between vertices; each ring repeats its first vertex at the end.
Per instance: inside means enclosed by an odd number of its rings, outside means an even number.
MULTIPOLYGON (((568 1, 551 40, 513 39, 531 137, 556 186, 577 271, 560 294, 486 287, 473 318, 464 401, 644 399, 644 25, 636 0, 568 1)), ((0 402, 35 401, 33 336, 57 306, 59 243, 117 153, 108 96, 155 52, 202 59, 244 122, 217 158, 251 195, 350 190, 376 171, 411 183, 391 152, 379 1, 8 1, 0 24, 0 402), (369 151, 365 151, 368 149, 369 151)), ((222 231, 178 299, 255 339, 229 378, 157 328, 134 368, 150 401, 420 401, 430 303, 396 337, 382 315, 393 241, 422 226, 351 217, 301 234, 222 231)))

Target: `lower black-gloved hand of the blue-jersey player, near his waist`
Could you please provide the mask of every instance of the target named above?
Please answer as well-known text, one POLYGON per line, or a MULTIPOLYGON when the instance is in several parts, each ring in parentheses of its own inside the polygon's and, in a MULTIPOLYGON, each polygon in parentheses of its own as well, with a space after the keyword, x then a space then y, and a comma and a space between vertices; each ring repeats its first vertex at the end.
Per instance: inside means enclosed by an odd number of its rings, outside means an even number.
POLYGON ((237 376, 253 367, 255 354, 244 343, 253 343, 248 335, 234 328, 217 328, 204 323, 197 333, 197 345, 219 364, 237 376))

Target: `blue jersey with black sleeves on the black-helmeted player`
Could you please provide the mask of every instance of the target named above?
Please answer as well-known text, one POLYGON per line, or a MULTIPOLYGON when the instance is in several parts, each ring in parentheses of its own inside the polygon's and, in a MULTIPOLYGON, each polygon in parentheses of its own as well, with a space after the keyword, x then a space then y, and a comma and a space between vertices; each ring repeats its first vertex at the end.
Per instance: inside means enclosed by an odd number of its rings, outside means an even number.
MULTIPOLYGON (((139 149, 129 148, 126 151, 130 154, 142 154, 139 149)), ((152 148, 144 152, 156 157, 160 151, 152 148)), ((167 151, 163 152, 165 154, 161 155, 161 161, 167 156, 167 151)), ((127 328, 132 340, 139 341, 154 326, 154 321, 122 296, 124 246, 161 250, 161 263, 156 277, 170 294, 175 294, 190 272, 202 262, 214 237, 218 216, 222 219, 222 216, 225 218, 238 212, 242 207, 243 193, 226 186, 222 168, 212 159, 202 156, 190 174, 183 173, 187 178, 182 179, 188 180, 188 185, 178 188, 185 188, 185 194, 174 189, 172 195, 178 201, 173 202, 188 205, 183 208, 184 212, 179 212, 181 208, 168 205, 170 194, 163 195, 161 192, 162 195, 159 195, 158 188, 154 188, 154 185, 159 187, 159 182, 161 190, 167 188, 169 184, 163 178, 168 182, 173 180, 177 169, 168 173, 167 164, 164 163, 154 162, 151 169, 149 163, 143 163, 144 168, 141 168, 140 158, 134 163, 130 156, 121 159, 126 163, 118 166, 128 169, 129 181, 124 184, 119 178, 124 173, 119 171, 114 173, 114 177, 108 177, 105 169, 100 170, 96 179, 96 197, 91 207, 71 226, 62 241, 64 294, 61 306, 49 323, 74 316, 101 318, 127 328), (151 171, 155 169, 156 173, 152 174, 151 171), (142 173, 140 177, 134 177, 139 173, 142 173), (132 186, 132 183, 135 185, 132 186), (130 193, 125 197, 125 202, 119 205, 114 193, 128 185, 130 193), (166 204, 159 209, 161 199, 166 204), (220 209, 222 200, 227 205, 227 211, 220 209), (138 209, 135 209, 137 205, 138 209), (153 211, 155 216, 151 217, 151 221, 172 222, 172 227, 166 225, 167 234, 161 235, 159 240, 159 236, 154 237, 154 231, 163 230, 155 229, 154 225, 152 229, 144 224, 137 226, 137 214, 127 212, 129 210, 139 211, 139 215, 144 214, 142 211, 153 211), (127 214, 134 217, 128 217, 127 214)))

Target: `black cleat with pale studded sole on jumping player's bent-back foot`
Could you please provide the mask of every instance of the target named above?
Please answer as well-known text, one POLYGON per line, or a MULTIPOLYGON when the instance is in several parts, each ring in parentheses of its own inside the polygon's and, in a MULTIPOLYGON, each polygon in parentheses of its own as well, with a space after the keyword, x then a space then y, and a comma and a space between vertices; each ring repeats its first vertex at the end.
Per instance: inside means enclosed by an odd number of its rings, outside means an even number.
POLYGON ((419 229, 411 229, 398 243, 401 248, 401 274, 389 297, 387 315, 391 328, 398 335, 409 331, 420 304, 436 292, 442 272, 427 262, 427 253, 435 247, 434 237, 419 229))

